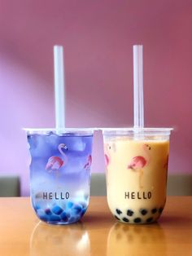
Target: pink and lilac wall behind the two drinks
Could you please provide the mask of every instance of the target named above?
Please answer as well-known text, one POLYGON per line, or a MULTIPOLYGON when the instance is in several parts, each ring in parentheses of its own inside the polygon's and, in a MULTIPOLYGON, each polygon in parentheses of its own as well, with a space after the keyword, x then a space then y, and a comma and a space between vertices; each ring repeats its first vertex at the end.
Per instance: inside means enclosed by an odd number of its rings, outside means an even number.
MULTIPOLYGON (((170 173, 191 173, 191 0, 0 1, 0 174, 28 194, 22 127, 54 126, 53 51, 65 48, 67 126, 132 126, 133 44, 144 45, 145 122, 173 126, 170 173)), ((104 171, 101 135, 93 171, 104 171)))

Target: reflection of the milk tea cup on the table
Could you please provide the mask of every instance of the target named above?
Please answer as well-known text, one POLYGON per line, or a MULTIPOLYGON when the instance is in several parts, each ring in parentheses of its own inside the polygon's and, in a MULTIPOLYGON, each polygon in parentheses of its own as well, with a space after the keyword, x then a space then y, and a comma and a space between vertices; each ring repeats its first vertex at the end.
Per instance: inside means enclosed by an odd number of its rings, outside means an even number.
POLYGON ((129 225, 115 223, 107 237, 107 256, 115 255, 155 255, 158 251, 166 255, 166 236, 164 229, 158 224, 129 225), (160 241, 160 243, 159 243, 160 241))

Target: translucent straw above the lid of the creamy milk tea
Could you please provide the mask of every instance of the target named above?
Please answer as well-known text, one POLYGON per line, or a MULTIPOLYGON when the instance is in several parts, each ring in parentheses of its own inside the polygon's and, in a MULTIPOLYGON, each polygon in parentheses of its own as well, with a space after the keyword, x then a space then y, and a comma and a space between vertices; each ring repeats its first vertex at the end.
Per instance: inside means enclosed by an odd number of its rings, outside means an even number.
POLYGON ((144 127, 142 46, 133 46, 134 128, 144 127))

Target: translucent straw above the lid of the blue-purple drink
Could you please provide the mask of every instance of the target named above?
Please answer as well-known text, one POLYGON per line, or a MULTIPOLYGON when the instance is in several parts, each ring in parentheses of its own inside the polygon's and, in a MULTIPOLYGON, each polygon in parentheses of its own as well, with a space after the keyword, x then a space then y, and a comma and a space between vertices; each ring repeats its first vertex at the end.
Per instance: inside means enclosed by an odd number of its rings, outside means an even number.
POLYGON ((65 128, 65 90, 63 46, 54 46, 54 70, 55 70, 55 126, 56 129, 65 128))

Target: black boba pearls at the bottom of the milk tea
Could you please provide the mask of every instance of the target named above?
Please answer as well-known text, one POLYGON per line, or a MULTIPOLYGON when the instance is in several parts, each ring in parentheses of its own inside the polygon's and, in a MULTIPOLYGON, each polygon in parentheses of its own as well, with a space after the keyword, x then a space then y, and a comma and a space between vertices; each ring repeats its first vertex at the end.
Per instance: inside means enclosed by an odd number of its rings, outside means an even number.
POLYGON ((128 209, 123 212, 116 208, 115 218, 124 223, 152 223, 159 218, 163 210, 164 207, 155 207, 138 211, 128 209))

